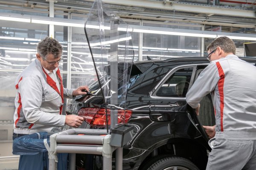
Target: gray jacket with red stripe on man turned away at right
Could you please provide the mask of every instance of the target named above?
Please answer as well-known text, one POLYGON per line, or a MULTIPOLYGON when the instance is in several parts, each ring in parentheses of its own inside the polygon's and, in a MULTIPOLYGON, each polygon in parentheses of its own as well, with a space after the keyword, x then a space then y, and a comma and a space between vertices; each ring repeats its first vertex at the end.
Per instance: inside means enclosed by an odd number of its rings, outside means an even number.
POLYGON ((256 139, 254 65, 233 54, 210 62, 186 94, 186 100, 196 108, 209 93, 215 109, 215 138, 256 139))

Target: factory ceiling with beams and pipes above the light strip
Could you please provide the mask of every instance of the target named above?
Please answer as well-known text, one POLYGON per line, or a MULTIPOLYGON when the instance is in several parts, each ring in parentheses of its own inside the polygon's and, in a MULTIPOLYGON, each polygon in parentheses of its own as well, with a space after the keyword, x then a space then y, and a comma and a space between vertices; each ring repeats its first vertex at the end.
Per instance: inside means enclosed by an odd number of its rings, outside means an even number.
MULTIPOLYGON (((0 8, 47 10, 51 0, 0 0, 0 8)), ((88 14, 94 0, 53 0, 55 14, 88 14)), ((103 0, 122 18, 255 28, 256 0, 103 0)))

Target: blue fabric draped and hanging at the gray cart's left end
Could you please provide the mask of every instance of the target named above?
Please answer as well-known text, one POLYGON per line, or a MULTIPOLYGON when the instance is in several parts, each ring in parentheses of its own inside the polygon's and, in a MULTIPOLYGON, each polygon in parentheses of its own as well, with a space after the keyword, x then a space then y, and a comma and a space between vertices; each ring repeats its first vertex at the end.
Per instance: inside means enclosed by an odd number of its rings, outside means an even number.
MULTIPOLYGON (((50 145, 47 132, 33 133, 13 140, 12 153, 20 155, 19 170, 48 170, 48 152, 44 139, 50 145)), ((67 170, 68 153, 58 153, 58 170, 67 170)))

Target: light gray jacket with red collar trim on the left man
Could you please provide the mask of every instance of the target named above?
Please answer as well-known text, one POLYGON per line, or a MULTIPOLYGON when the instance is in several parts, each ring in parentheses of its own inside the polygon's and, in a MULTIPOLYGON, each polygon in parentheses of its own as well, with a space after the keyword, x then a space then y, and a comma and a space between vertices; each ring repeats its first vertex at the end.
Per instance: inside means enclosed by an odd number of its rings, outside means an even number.
MULTIPOLYGON (((59 71, 58 74, 62 82, 59 71)), ((61 115, 64 104, 61 91, 65 97, 72 98, 74 89, 63 88, 61 84, 59 91, 51 80, 38 59, 16 78, 14 133, 31 134, 64 127, 66 116, 61 115)))

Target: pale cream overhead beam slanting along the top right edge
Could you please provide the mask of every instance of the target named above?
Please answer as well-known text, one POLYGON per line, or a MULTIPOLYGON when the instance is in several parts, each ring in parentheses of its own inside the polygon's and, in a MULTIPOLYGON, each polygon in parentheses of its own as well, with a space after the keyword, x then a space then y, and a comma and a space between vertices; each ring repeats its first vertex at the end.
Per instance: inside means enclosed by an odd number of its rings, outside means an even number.
MULTIPOLYGON (((94 2, 94 0, 87 0, 94 2)), ((207 15, 226 15, 226 16, 238 16, 256 18, 255 11, 244 10, 239 8, 229 8, 222 6, 209 6, 194 3, 181 3, 174 1, 157 1, 157 0, 102 0, 106 4, 124 5, 124 6, 136 6, 143 8, 156 8, 163 10, 175 10, 184 12, 203 13, 207 15)))

